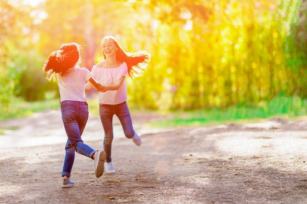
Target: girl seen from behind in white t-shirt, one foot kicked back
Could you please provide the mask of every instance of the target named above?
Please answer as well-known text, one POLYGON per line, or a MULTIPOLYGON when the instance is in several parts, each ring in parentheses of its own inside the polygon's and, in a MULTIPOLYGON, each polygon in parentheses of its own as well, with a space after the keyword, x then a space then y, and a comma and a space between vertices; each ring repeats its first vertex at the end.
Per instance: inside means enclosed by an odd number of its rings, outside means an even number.
POLYGON ((101 177, 104 171, 106 154, 104 151, 95 151, 84 144, 81 135, 88 119, 88 105, 85 95, 85 82, 88 81, 97 91, 104 91, 101 84, 86 68, 79 68, 80 46, 77 43, 63 44, 51 52, 43 70, 47 79, 58 81, 61 101, 61 114, 67 134, 65 145, 65 159, 62 171, 62 187, 72 187, 74 181, 70 180, 73 168, 75 151, 86 157, 94 159, 96 177, 101 177))

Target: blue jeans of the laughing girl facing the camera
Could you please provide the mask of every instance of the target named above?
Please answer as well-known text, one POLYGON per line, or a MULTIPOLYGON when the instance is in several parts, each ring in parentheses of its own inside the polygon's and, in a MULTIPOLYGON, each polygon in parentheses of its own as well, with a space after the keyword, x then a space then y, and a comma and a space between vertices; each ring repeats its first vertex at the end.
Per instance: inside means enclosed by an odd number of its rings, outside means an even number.
POLYGON ((135 131, 132 126, 131 115, 126 101, 116 105, 99 104, 99 115, 104 130, 103 148, 106 153, 106 162, 112 161, 111 148, 114 137, 113 135, 114 114, 120 120, 124 130, 124 134, 127 138, 130 139, 135 134, 135 131))

